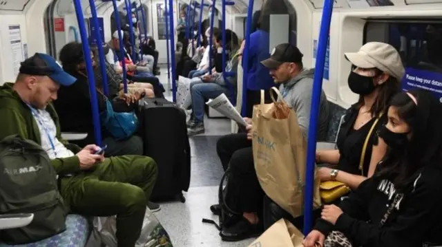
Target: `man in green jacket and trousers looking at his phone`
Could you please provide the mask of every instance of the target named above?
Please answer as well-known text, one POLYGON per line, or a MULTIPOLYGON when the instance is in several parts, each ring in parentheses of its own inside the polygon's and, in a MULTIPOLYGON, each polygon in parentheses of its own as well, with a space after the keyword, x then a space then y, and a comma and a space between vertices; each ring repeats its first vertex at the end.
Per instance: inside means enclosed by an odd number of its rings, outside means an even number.
POLYGON ((16 82, 0 87, 0 140, 19 134, 40 144, 57 171, 59 191, 70 211, 117 215, 118 246, 133 247, 140 237, 157 164, 137 155, 104 158, 95 154, 99 149, 95 144, 81 149, 61 138, 51 102, 57 99, 60 85, 76 80, 46 54, 37 53, 21 63, 16 82))

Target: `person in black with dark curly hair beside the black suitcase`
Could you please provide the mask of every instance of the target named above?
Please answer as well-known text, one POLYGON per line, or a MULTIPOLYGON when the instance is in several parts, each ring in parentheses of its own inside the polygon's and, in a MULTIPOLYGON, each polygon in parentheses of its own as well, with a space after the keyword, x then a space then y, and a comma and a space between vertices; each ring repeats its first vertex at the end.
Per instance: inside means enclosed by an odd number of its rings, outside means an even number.
MULTIPOLYGON (((61 48, 59 59, 63 69, 71 76, 77 78, 77 83, 70 87, 60 87, 59 97, 54 102, 55 109, 59 113, 61 131, 86 132, 88 137, 84 140, 75 141, 81 147, 94 141, 94 129, 92 120, 92 107, 90 106, 90 89, 86 73, 86 62, 81 43, 68 43, 61 48)), ((100 71, 95 68, 96 73, 100 71)), ((97 90, 99 112, 106 111, 106 96, 97 90)), ((137 100, 130 95, 123 95, 119 100, 127 100, 132 108, 135 108, 137 100)), ((110 133, 102 130, 103 144, 108 145, 106 155, 143 154, 143 142, 139 136, 131 136, 127 140, 115 140, 110 133)))

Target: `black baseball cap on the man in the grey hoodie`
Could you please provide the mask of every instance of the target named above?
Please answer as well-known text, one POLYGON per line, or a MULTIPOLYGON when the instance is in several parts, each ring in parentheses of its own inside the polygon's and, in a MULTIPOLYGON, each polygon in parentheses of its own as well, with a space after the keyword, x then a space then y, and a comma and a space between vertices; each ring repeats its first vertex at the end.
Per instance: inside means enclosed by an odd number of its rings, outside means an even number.
POLYGON ((298 47, 290 43, 283 43, 273 48, 270 58, 261 61, 269 69, 277 69, 282 63, 301 63, 304 56, 298 47))

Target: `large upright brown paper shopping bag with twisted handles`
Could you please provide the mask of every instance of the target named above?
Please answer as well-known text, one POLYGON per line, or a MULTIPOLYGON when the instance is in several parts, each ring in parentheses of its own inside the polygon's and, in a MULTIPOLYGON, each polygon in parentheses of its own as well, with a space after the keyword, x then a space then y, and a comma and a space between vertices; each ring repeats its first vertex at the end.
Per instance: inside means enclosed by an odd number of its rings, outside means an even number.
MULTIPOLYGON (((253 107, 253 160, 256 175, 267 196, 293 217, 302 215, 304 206, 307 140, 291 109, 276 87, 273 103, 253 107)), ((319 178, 314 184, 314 208, 320 206, 319 178)))

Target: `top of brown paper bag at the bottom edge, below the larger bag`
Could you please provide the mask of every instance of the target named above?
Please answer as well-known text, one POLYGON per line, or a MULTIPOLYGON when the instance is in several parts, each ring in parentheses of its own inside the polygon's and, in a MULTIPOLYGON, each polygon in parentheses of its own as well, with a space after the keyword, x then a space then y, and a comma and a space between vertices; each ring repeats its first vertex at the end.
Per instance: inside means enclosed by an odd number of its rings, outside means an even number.
POLYGON ((304 235, 286 219, 280 219, 249 247, 302 247, 304 235))

